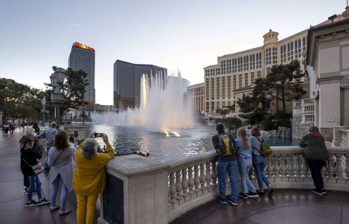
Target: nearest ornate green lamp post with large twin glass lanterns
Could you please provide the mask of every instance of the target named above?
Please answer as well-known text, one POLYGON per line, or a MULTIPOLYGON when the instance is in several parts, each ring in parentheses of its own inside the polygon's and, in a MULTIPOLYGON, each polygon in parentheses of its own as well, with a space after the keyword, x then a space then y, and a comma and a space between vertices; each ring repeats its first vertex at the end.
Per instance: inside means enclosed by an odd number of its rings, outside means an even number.
POLYGON ((51 86, 54 87, 54 92, 51 92, 51 102, 56 104, 56 129, 59 131, 59 104, 64 102, 64 94, 60 92, 64 83, 66 71, 63 68, 57 68, 54 73, 51 74, 51 86))

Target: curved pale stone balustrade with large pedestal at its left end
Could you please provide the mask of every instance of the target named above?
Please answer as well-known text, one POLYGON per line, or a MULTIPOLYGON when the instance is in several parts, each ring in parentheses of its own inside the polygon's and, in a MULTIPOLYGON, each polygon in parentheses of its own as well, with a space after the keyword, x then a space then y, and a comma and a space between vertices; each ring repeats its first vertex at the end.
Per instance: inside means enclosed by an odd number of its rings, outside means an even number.
MULTIPOLYGON (((307 162, 301 156, 303 148, 271 148, 273 154, 267 157, 264 174, 274 188, 314 187, 307 162)), ((327 149, 327 166, 321 170, 325 188, 348 191, 349 147, 327 149)), ((219 196, 214 151, 167 161, 136 155, 120 156, 107 163, 106 172, 107 185, 101 199, 98 223, 142 223, 145 220, 148 223, 169 223, 190 209, 219 196), (115 193, 116 188, 124 192, 115 193), (122 207, 108 207, 115 202, 121 203, 122 207), (142 208, 147 208, 146 214, 142 208)), ((248 178, 258 187, 252 169, 248 178)), ((225 183, 226 194, 229 195, 231 187, 228 176, 225 183)), ((238 185, 240 187, 240 183, 238 185)))

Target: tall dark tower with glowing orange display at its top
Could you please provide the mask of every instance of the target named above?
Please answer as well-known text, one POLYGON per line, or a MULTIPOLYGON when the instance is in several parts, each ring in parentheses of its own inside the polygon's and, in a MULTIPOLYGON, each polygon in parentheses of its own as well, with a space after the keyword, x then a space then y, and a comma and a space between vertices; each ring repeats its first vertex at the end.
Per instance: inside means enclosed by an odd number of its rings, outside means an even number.
POLYGON ((85 87, 84 100, 88 102, 85 109, 93 111, 96 103, 95 94, 95 49, 75 42, 69 54, 68 67, 87 73, 88 85, 85 87))

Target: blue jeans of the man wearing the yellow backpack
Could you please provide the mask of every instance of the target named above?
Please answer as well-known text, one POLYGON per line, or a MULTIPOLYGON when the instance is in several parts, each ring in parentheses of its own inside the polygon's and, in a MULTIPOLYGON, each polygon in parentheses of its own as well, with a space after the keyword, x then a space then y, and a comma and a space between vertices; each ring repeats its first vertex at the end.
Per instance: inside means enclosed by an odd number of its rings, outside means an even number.
POLYGON ((220 197, 225 198, 225 174, 228 171, 229 181, 231 185, 230 199, 233 203, 236 203, 238 199, 238 165, 237 161, 218 162, 217 163, 217 178, 218 178, 218 190, 220 197))

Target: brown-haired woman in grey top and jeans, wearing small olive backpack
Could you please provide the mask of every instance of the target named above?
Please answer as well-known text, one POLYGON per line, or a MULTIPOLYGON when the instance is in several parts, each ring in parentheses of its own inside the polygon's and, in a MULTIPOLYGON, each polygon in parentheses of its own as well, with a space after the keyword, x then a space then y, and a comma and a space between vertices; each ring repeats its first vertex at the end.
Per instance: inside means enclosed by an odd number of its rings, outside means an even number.
POLYGON ((268 186, 269 188, 269 194, 268 196, 273 196, 274 194, 274 188, 270 184, 268 178, 263 174, 264 168, 267 165, 267 157, 261 155, 262 151, 262 144, 263 144, 263 137, 261 136, 261 133, 259 132, 258 128, 252 128, 251 129, 251 152, 252 152, 252 158, 254 160, 253 168, 254 172, 256 173, 259 191, 257 192, 259 195, 264 195, 264 189, 263 189, 263 182, 268 186))

